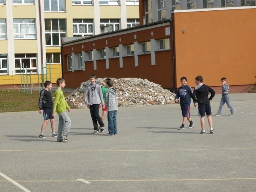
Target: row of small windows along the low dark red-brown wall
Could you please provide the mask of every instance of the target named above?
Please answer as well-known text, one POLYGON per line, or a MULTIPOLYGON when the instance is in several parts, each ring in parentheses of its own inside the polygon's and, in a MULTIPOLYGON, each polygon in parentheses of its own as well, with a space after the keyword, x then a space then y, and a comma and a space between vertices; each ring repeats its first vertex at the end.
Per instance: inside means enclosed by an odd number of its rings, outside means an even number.
MULTIPOLYGON (((168 50, 170 49, 170 39, 161 39, 156 40, 158 43, 157 50, 168 50)), ((122 56, 131 56, 134 55, 134 44, 125 45, 121 47, 111 47, 109 48, 109 58, 118 58, 120 56, 120 48, 125 49, 125 53, 122 54, 122 56)), ((147 54, 151 53, 151 42, 143 42, 139 43, 139 49, 141 54, 147 54)), ((93 55, 93 51, 87 51, 84 52, 84 58, 83 54, 76 53, 73 55, 67 55, 67 70, 73 71, 73 70, 83 70, 83 64, 84 61, 93 61, 94 57, 96 60, 105 59, 106 58, 106 49, 99 49, 95 51, 96 55, 93 55), (72 58, 72 56, 74 58, 72 58)))

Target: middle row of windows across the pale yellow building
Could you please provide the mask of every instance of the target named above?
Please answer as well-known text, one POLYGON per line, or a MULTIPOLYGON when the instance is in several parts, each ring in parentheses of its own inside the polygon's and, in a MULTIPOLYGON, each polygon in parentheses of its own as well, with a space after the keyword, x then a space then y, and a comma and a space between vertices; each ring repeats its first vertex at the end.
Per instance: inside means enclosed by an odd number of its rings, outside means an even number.
MULTIPOLYGON (((127 27, 139 25, 139 19, 127 19, 127 27)), ((14 39, 36 39, 35 19, 13 19, 14 39)), ((101 19, 101 32, 119 30, 119 19, 101 19)), ((60 46, 61 38, 66 37, 65 19, 45 19, 45 39, 48 46, 60 46)), ((73 19, 73 36, 93 35, 93 19, 73 19)), ((6 39, 6 20, 0 19, 0 39, 6 39)))

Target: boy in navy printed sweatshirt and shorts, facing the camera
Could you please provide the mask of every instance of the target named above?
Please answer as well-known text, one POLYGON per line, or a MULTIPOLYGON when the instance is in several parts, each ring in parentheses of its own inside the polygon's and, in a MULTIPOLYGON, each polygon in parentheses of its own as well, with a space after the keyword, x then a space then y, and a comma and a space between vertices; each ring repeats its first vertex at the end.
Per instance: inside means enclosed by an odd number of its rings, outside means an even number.
POLYGON ((178 89, 177 94, 175 96, 175 102, 178 102, 178 99, 180 97, 180 108, 183 116, 182 125, 179 130, 184 129, 186 119, 189 121, 189 128, 192 128, 195 124, 192 119, 190 118, 190 103, 191 103, 191 97, 193 97, 193 92, 191 87, 189 87, 186 82, 186 77, 181 77, 180 82, 182 86, 178 89))

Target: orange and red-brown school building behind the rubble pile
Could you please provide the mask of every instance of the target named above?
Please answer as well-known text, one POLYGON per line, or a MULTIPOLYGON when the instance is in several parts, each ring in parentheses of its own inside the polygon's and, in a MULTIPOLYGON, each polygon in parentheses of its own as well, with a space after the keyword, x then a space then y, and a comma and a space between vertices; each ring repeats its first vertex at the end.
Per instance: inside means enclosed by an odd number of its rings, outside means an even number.
POLYGON ((141 78, 176 90, 195 77, 221 93, 256 84, 256 6, 242 0, 140 0, 140 26, 85 38, 63 38, 62 76, 77 88, 99 78, 141 78))

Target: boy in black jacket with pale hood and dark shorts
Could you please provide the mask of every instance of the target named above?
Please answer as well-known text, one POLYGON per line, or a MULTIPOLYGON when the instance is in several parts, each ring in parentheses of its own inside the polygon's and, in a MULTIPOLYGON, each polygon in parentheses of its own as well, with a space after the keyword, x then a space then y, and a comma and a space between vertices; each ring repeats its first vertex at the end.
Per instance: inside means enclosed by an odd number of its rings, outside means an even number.
POLYGON ((195 89, 193 91, 193 102, 194 102, 194 106, 196 107, 198 105, 198 111, 200 113, 201 116, 201 134, 205 134, 205 130, 204 130, 204 116, 206 113, 207 119, 208 119, 208 123, 210 126, 210 133, 213 134, 213 128, 212 128, 212 110, 211 110, 211 105, 210 105, 210 100, 212 100, 212 98, 215 96, 215 91, 209 87, 206 84, 203 84, 203 77, 202 76, 197 76, 195 78, 195 89), (208 98, 208 94, 209 92, 211 93, 211 96, 208 98), (195 99, 196 97, 196 99, 195 99))

